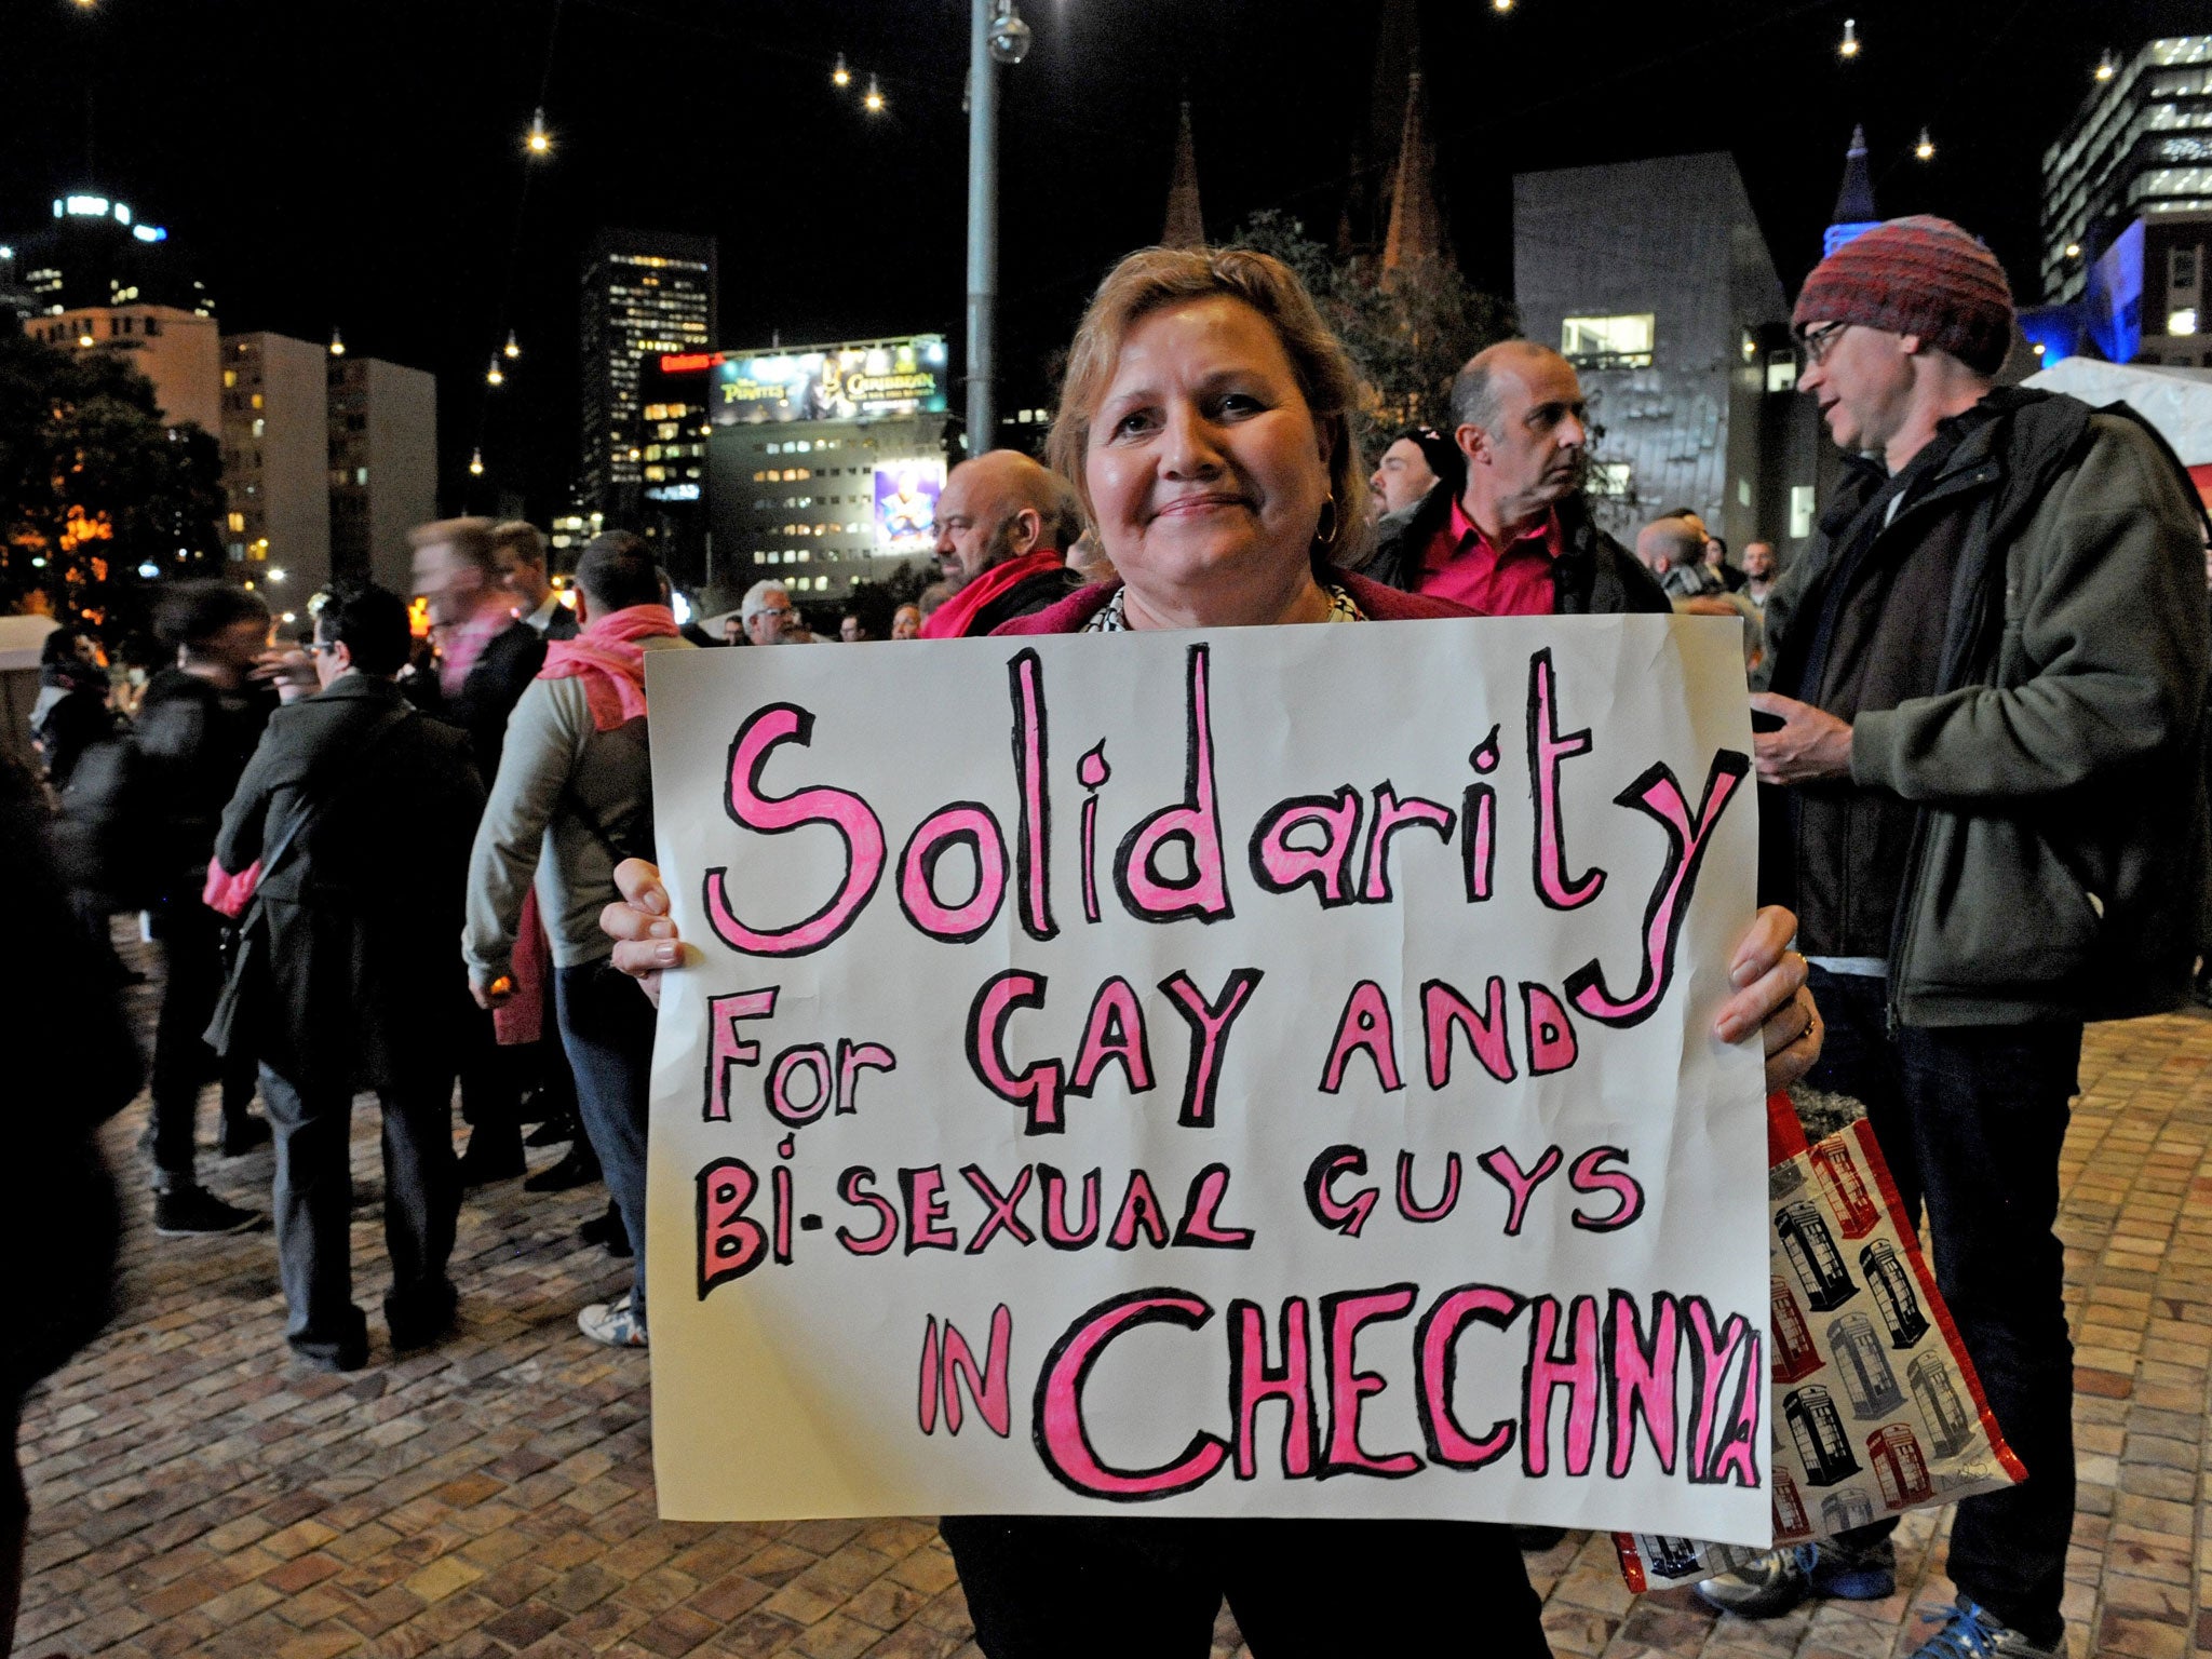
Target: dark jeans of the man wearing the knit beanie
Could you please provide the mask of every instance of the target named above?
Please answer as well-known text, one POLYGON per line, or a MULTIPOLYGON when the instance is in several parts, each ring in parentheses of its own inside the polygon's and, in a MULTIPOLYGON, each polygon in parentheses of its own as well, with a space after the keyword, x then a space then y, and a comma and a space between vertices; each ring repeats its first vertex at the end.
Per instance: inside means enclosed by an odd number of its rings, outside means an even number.
POLYGON ((2028 1641, 2055 1648, 2066 1637, 2075 1453, 2066 1261, 2053 1225, 2081 1024, 1889 1031, 1887 980, 1816 967, 1812 993, 1827 1046, 1805 1084, 1865 1102, 1907 1214, 1927 1210, 1936 1285, 2028 1467, 2022 1484, 1960 1502, 1951 1582, 2028 1641))

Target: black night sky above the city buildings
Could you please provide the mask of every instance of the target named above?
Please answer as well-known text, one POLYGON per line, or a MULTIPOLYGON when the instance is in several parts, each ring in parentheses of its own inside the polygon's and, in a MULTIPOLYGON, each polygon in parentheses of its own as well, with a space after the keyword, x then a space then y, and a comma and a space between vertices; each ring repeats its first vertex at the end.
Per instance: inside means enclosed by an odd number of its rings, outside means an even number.
MULTIPOLYGON (((1035 46, 1002 77, 1002 407, 1044 400, 1044 356, 1091 285, 1157 239, 1179 97, 1212 234, 1285 208, 1332 239, 1354 159, 1389 159, 1402 80, 1385 73, 1378 106, 1383 4, 1022 13, 1035 46)), ((2208 0, 1420 4, 1455 252, 1498 292, 1513 173, 1688 150, 1736 155, 1794 288, 1863 119, 1882 210, 1964 221, 2033 299, 2042 148, 2097 55, 2203 29, 2208 0), (1865 42, 1849 64, 1847 13, 1865 42), (1931 164, 1911 159, 1922 124, 1931 164)), ((542 520, 575 471, 577 252, 599 223, 719 237, 723 345, 958 338, 964 71, 962 0, 0 0, 0 234, 73 188, 128 201, 170 228, 226 330, 338 325, 356 352, 434 369, 447 507, 507 489, 542 520), (880 117, 858 104, 869 73, 880 117), (557 153, 531 166, 540 88, 557 153), (509 327, 524 356, 491 392, 509 327), (491 471, 471 484, 478 442, 491 471)))

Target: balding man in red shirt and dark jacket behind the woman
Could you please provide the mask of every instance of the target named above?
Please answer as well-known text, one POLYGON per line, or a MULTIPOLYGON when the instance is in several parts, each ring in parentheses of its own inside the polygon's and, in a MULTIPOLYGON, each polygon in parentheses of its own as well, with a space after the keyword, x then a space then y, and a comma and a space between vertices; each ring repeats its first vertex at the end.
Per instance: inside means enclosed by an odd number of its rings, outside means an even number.
POLYGON ((1369 575, 1491 617, 1670 608, 1650 571, 1590 518, 1588 409, 1573 363, 1535 341, 1502 341, 1453 378, 1451 418, 1467 482, 1385 526, 1369 575))

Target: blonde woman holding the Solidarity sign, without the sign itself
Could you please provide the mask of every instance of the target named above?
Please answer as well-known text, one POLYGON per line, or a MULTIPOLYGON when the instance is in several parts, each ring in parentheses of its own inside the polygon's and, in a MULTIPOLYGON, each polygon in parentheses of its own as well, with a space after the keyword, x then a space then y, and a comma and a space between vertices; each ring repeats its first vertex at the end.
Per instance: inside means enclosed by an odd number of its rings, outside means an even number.
MULTIPOLYGON (((1115 584, 1000 633, 1119 633, 1467 615, 1338 568, 1365 522, 1358 380, 1298 279, 1243 250, 1130 254, 1068 358, 1051 460, 1082 493, 1115 584)), ((615 872, 615 964, 657 991, 684 960, 659 872, 615 872)), ((1714 1033, 1763 1033, 1767 1084, 1820 1048, 1794 918, 1765 909, 1730 962, 1714 1033)), ((1546 1652, 1504 1526, 1467 1522, 947 1515, 991 1659, 1208 1652, 1223 1595, 1261 1659, 1546 1652)))

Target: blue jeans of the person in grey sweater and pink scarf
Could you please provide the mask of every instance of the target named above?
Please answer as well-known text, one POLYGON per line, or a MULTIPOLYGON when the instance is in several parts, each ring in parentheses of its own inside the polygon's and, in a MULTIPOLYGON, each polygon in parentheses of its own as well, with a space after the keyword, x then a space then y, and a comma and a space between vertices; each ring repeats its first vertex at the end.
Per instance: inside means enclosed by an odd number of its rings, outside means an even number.
POLYGON ((653 1004, 608 962, 555 969, 560 1040, 575 1073, 575 1110, 630 1234, 630 1312, 646 1318, 646 1102, 653 1004))

